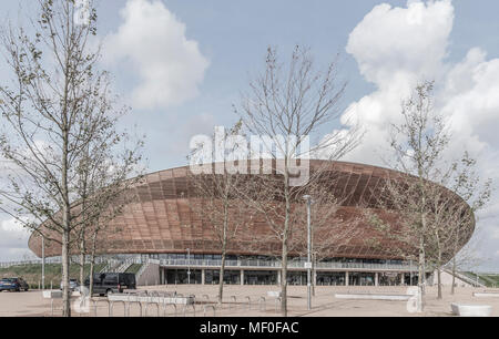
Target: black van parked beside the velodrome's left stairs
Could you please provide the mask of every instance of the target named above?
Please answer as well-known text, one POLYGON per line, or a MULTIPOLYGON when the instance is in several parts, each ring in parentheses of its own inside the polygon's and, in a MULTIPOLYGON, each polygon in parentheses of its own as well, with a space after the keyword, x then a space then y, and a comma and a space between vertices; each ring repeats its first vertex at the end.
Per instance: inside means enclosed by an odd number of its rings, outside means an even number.
MULTIPOLYGON (((90 277, 84 281, 90 287, 90 277)), ((109 294, 122 294, 125 289, 135 289, 135 275, 126 273, 101 273, 93 275, 93 294, 106 296, 109 294)))

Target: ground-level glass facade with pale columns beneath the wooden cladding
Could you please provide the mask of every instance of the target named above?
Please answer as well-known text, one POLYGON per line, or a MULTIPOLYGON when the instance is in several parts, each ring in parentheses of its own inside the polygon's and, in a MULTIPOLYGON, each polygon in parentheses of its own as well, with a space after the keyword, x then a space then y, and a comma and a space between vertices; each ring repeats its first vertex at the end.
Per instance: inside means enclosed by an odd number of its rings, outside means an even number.
MULTIPOLYGON (((138 256, 135 256, 138 257, 138 256)), ((140 259, 147 258, 164 260, 161 265, 162 284, 206 284, 217 285, 220 281, 221 255, 190 254, 157 254, 140 255, 140 259), (206 261, 203 261, 206 260, 206 261), (206 266, 206 268, 203 268, 206 266), (190 275, 189 275, 190 273, 190 275)), ((281 263, 267 256, 227 256, 231 264, 224 274, 226 285, 277 285, 281 279, 281 263), (237 267, 234 267, 237 266, 237 267), (261 267, 261 268, 259 268, 261 267), (243 275, 242 275, 243 271, 243 275), (243 279, 243 281, 241 281, 243 279)), ((289 286, 306 286, 307 270, 304 269, 305 258, 291 258, 287 271, 289 286), (297 265, 299 264, 299 265, 297 265), (299 268, 298 268, 299 267, 299 268)), ((320 261, 312 273, 316 286, 400 286, 417 285, 417 271, 410 271, 408 261, 381 259, 330 258, 320 261), (322 263, 342 263, 354 265, 323 265, 322 263), (403 267, 385 267, 385 265, 401 265, 403 267), (334 269, 332 269, 332 267, 334 269), (384 269, 386 270, 384 271, 384 269), (358 269, 358 271, 356 271, 358 269), (371 271, 369 271, 373 269, 371 271), (397 271, 406 270, 406 273, 397 271), (377 274, 376 274, 377 271, 377 274)), ((414 267, 414 266, 413 266, 414 267)), ((414 267, 415 269, 416 267, 414 267)))

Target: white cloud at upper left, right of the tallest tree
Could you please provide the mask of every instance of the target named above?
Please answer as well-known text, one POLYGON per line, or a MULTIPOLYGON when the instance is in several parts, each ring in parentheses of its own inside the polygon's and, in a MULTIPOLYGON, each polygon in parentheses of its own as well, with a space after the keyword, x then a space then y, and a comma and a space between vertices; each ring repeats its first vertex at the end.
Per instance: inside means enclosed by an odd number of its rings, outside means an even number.
POLYGON ((159 0, 129 0, 123 23, 105 39, 104 61, 124 60, 140 79, 133 89, 138 109, 166 107, 194 97, 208 61, 197 42, 159 0))

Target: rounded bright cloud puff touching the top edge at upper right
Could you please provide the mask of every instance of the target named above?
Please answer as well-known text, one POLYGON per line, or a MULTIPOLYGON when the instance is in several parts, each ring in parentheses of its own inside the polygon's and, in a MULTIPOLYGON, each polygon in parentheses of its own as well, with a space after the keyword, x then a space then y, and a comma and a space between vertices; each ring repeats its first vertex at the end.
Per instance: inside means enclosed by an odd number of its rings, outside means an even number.
POLYGON ((346 49, 366 80, 383 89, 388 80, 438 72, 452 21, 450 1, 411 1, 407 8, 383 3, 354 29, 346 49))

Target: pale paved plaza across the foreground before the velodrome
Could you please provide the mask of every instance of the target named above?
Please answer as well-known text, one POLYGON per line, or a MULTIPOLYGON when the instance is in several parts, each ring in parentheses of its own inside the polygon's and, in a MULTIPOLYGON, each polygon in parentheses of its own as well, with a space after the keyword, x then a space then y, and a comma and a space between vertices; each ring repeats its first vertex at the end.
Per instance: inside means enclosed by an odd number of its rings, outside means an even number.
MULTIPOLYGON (((215 305, 217 286, 194 286, 194 285, 169 285, 141 287, 140 290, 147 291, 176 291, 187 296, 195 295, 196 304, 185 309, 187 317, 213 316, 213 305, 215 305), (207 306, 207 307, 205 307, 207 306)), ((273 297, 267 296, 267 291, 278 290, 276 286, 226 286, 224 305, 215 306, 216 317, 275 317, 279 316, 278 305, 273 297), (248 298, 249 297, 249 304, 248 298), (265 301, 262 299, 265 298, 265 301)), ((346 300, 335 298, 335 294, 405 294, 407 287, 347 287, 347 286, 320 286, 316 287, 316 296, 313 299, 313 309, 306 309, 306 287, 288 287, 288 309, 289 316, 296 317, 448 317, 452 316, 450 311, 451 302, 476 304, 492 306, 492 316, 499 316, 499 298, 495 297, 473 297, 473 292, 485 291, 483 288, 457 288, 456 295, 450 295, 450 288, 444 288, 444 299, 436 298, 436 287, 427 288, 426 307, 424 314, 411 314, 407 310, 407 301, 385 301, 385 300, 346 300)), ((487 291, 497 291, 487 289, 487 291)), ((96 298, 99 317, 109 316, 109 305, 106 298, 96 298)), ((77 300, 77 299, 75 299, 77 300)), ((61 301, 55 299, 54 316, 61 315, 61 301)), ((125 308, 121 302, 113 305, 112 314, 115 317, 122 317, 125 308)), ((174 317, 175 309, 172 306, 160 310, 155 305, 142 306, 142 315, 174 317)), ((41 291, 32 290, 28 292, 1 292, 0 294, 0 316, 38 316, 50 317, 52 314, 51 301, 43 299, 41 291)), ((139 317, 141 315, 138 304, 131 305, 130 316, 139 317)), ((184 307, 177 306, 176 315, 184 316, 184 307)), ((77 317, 93 317, 94 307, 91 307, 90 314, 77 314, 77 317)))

